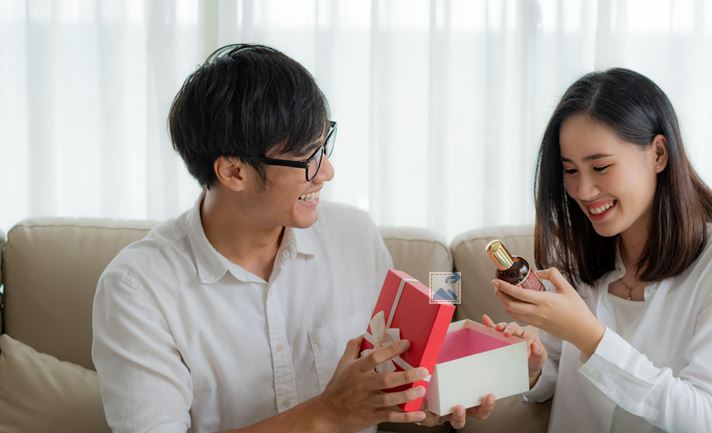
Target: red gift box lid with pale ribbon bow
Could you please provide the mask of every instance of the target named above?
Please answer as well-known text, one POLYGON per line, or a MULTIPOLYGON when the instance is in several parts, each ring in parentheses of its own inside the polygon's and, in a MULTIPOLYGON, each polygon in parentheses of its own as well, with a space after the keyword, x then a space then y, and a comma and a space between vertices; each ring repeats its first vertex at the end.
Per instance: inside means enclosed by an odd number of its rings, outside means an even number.
MULTIPOLYGON (((432 374, 454 313, 452 304, 431 303, 430 291, 423 283, 405 272, 389 269, 361 343, 361 356, 392 341, 409 340, 408 350, 380 364, 376 370, 388 373, 425 367, 432 374)), ((427 390, 429 381, 430 376, 384 391, 402 391, 415 386, 427 390)), ((420 410, 423 398, 399 406, 406 412, 420 410)))

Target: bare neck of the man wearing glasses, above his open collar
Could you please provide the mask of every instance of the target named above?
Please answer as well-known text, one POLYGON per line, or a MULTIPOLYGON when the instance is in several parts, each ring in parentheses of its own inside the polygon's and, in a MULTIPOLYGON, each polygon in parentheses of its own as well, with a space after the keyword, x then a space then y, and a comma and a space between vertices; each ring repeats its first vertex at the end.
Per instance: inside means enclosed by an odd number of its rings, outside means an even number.
POLYGON ((225 258, 269 281, 284 227, 270 227, 255 218, 224 192, 208 191, 200 219, 210 244, 225 258))

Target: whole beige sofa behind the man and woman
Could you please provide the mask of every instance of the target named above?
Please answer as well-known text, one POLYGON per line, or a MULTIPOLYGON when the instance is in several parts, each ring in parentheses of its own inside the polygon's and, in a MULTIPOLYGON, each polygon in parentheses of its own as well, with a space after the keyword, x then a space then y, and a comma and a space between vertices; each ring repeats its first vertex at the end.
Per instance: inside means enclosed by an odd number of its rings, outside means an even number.
MULTIPOLYGON (((154 224, 29 219, 12 227, 6 238, 0 232, 1 314, 3 332, 11 337, 0 338, 4 348, 0 354, 0 433, 108 431, 91 371, 92 297, 112 257, 154 224)), ((479 321, 485 312, 495 320, 507 320, 489 284, 493 267, 484 246, 498 237, 512 251, 531 259, 532 227, 474 230, 456 237, 451 245, 429 230, 383 227, 381 231, 395 267, 419 280, 427 282, 430 271, 462 272, 457 320, 479 321)), ((518 396, 510 397, 497 402, 490 419, 471 420, 461 431, 544 432, 548 413, 548 404, 527 404, 518 396)), ((384 424, 380 429, 441 432, 449 431, 449 426, 384 424)))

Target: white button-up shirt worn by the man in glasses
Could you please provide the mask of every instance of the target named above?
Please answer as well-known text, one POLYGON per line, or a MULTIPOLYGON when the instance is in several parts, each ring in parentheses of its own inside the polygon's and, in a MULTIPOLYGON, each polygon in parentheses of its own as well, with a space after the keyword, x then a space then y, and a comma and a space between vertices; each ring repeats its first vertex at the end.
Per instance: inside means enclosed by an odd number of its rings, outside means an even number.
POLYGON ((312 227, 285 229, 264 281, 213 248, 201 203, 99 280, 92 355, 115 433, 219 432, 314 397, 391 266, 365 212, 322 202, 312 227))

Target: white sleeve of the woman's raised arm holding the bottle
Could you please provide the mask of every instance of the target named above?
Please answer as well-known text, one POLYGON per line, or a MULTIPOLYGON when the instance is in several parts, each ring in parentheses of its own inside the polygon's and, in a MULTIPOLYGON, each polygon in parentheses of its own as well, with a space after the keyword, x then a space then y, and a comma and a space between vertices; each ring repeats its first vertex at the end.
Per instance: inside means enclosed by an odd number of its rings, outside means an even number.
MULTIPOLYGON (((683 318, 666 319, 675 326, 683 318)), ((687 364, 677 376, 610 329, 579 372, 618 406, 664 431, 712 431, 711 342, 712 296, 696 319, 687 364)))

